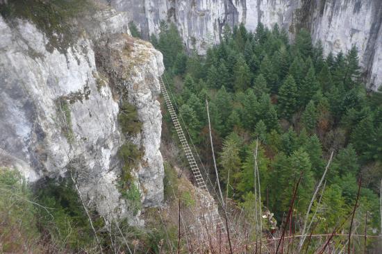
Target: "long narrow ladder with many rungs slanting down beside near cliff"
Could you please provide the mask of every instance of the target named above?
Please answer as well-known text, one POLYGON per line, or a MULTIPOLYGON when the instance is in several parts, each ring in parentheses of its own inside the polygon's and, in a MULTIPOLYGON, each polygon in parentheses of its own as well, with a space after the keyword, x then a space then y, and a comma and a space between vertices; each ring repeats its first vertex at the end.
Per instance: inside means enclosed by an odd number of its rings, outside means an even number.
POLYGON ((190 164, 190 168, 197 182, 197 191, 199 192, 201 205, 206 209, 208 213, 206 217, 209 217, 211 223, 214 226, 216 226, 217 230, 222 232, 222 234, 225 234, 226 228, 217 210, 217 205, 213 197, 208 192, 203 176, 201 176, 197 162, 195 161, 194 155, 192 154, 192 151, 190 149, 190 146, 188 145, 187 139, 185 138, 181 124, 179 123, 174 107, 172 106, 172 102, 169 99, 169 94, 167 93, 165 83, 163 82, 163 79, 161 76, 158 77, 158 80, 160 83, 160 91, 163 94, 163 98, 165 98, 167 110, 169 111, 169 115, 171 115, 172 123, 174 124, 176 133, 178 134, 179 140, 181 141, 183 151, 185 153, 185 157, 188 160, 188 164, 190 164))

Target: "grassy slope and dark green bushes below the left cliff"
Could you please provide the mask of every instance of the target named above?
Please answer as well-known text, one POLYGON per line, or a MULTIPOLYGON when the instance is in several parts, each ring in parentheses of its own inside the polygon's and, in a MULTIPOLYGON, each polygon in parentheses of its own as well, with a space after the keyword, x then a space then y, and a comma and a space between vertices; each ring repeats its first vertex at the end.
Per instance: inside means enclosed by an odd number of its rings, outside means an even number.
MULTIPOLYGON (((47 248, 70 253, 95 246, 71 180, 47 180, 33 193, 18 171, 1 168, 0 189, 1 253, 45 253, 47 248)), ((104 226, 97 214, 92 220, 97 229, 104 226)))

